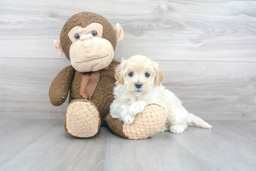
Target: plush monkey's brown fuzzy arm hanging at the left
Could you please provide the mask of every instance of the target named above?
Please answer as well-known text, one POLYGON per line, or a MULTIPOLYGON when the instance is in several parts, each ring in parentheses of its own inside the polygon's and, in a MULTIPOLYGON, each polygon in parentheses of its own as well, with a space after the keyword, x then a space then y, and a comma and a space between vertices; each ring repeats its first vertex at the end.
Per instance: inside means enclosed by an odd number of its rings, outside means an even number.
POLYGON ((54 78, 49 89, 49 97, 52 105, 60 106, 68 96, 68 91, 74 78, 75 69, 72 65, 65 67, 54 78))

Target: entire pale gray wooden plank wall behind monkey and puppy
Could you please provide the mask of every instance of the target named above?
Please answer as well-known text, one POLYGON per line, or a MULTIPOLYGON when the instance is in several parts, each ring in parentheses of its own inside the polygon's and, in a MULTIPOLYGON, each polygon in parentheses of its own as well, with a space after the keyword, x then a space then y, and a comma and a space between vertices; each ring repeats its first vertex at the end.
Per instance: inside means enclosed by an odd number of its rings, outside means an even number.
POLYGON ((114 58, 154 59, 191 113, 256 120, 256 2, 242 0, 0 1, 0 117, 63 119, 48 90, 70 62, 53 40, 81 11, 120 23, 114 58))

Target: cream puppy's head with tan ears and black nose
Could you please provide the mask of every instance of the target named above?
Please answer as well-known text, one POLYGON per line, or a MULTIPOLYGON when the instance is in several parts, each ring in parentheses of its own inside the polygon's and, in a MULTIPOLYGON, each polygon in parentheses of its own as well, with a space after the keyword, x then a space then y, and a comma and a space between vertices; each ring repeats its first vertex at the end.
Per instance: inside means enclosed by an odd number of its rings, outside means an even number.
POLYGON ((131 94, 141 96, 148 93, 154 85, 160 86, 164 74, 149 58, 136 55, 128 60, 122 59, 115 70, 115 78, 117 83, 124 84, 131 94))

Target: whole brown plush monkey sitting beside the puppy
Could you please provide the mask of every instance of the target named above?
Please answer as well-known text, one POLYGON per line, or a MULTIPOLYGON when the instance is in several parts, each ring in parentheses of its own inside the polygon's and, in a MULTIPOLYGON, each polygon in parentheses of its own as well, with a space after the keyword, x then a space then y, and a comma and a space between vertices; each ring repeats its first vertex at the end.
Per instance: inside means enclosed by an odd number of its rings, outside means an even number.
POLYGON ((132 124, 112 118, 108 113, 116 82, 114 60, 116 43, 123 40, 120 24, 115 28, 101 15, 80 12, 67 20, 55 49, 71 61, 52 81, 49 97, 54 106, 66 101, 65 130, 76 137, 95 135, 102 124, 129 139, 147 138, 159 131, 166 120, 162 107, 149 105, 132 124), (143 120, 141 119, 143 118, 143 120))

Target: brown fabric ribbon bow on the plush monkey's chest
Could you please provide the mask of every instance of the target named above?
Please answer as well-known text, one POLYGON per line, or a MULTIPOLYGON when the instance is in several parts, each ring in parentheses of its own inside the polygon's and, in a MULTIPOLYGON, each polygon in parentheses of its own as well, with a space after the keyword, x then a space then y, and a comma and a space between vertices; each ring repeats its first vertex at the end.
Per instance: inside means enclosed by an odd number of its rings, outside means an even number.
MULTIPOLYGON (((107 69, 108 66, 104 69, 107 69)), ((89 97, 89 100, 91 100, 91 97, 93 95, 94 90, 97 87, 97 84, 100 80, 100 71, 90 71, 83 73, 82 75, 82 82, 80 87, 80 94, 82 97, 84 97, 86 100, 89 97)))

